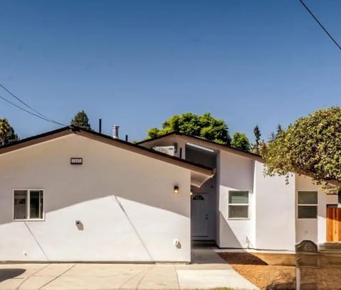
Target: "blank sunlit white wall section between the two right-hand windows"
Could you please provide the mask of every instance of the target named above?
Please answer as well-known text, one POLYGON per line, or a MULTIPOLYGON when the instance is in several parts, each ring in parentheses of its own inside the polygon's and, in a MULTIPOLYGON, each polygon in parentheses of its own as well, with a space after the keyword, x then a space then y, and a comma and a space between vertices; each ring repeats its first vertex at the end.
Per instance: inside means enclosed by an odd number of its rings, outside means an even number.
POLYGON ((255 162, 255 245, 264 250, 295 250, 295 177, 264 176, 264 164, 255 162))

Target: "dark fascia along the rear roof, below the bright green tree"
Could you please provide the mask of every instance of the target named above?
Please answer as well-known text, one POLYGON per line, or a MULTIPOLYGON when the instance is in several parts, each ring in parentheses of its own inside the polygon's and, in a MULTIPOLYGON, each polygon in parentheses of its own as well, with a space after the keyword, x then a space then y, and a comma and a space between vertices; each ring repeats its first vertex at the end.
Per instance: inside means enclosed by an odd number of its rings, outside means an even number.
POLYGON ((163 138, 168 138, 168 137, 170 137, 172 135, 173 136, 183 136, 185 138, 192 138, 193 140, 199 140, 200 142, 204 142, 204 143, 207 143, 207 144, 210 144, 210 145, 214 145, 218 149, 225 150, 225 151, 228 151, 228 152, 234 152, 237 155, 242 155, 244 157, 249 157, 251 159, 258 160, 260 162, 264 162, 264 159, 263 159, 263 157, 261 157, 261 155, 258 155, 258 154, 252 153, 252 152, 248 152, 248 151, 244 151, 244 150, 240 150, 240 149, 231 147, 229 145, 223 145, 223 144, 220 144, 220 143, 216 143, 216 142, 213 142, 213 141, 210 141, 210 140, 206 140, 204 138, 200 138, 200 137, 197 137, 197 136, 188 135, 188 134, 179 133, 179 132, 167 133, 165 135, 161 135, 161 136, 158 136, 156 138, 151 138, 151 139, 143 140, 143 141, 141 141, 141 142, 139 142, 137 144, 143 145, 144 143, 149 143, 149 142, 153 142, 153 141, 156 141, 156 140, 161 140, 163 138))

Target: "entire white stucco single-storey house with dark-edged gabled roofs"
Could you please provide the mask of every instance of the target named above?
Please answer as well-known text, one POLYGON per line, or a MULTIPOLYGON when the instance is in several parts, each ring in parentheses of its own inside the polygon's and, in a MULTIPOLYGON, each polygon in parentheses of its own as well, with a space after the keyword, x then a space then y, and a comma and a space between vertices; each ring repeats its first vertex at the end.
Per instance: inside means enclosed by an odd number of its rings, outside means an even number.
POLYGON ((135 145, 65 127, 2 146, 0 261, 190 262, 193 241, 330 241, 337 195, 263 170, 258 155, 180 133, 135 145))

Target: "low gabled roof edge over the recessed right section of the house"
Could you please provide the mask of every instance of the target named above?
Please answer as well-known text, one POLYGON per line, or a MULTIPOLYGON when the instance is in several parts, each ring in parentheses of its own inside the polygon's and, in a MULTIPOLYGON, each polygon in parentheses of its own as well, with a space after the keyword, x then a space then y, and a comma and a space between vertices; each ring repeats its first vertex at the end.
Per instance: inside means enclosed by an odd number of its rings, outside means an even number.
POLYGON ((178 132, 167 133, 165 135, 161 135, 156 138, 151 138, 151 139, 141 141, 137 144, 144 145, 144 146, 153 145, 153 143, 157 143, 157 141, 166 140, 172 137, 173 138, 180 137, 180 138, 183 138, 184 140, 187 140, 188 142, 196 143, 198 145, 209 147, 215 150, 222 150, 222 151, 230 152, 230 153, 242 156, 242 157, 247 157, 252 160, 257 160, 259 162, 264 162, 264 159, 260 155, 257 155, 255 153, 244 151, 244 150, 239 150, 228 145, 222 145, 220 143, 215 143, 215 142, 212 142, 203 138, 199 138, 193 135, 188 135, 188 134, 178 133, 178 132))

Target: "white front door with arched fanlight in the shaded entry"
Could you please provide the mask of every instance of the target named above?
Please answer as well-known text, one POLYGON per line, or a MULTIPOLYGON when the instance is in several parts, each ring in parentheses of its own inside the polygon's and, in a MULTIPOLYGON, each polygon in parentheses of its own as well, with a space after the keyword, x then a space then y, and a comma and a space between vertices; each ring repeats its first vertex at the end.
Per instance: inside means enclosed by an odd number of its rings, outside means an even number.
POLYGON ((208 235, 208 199, 207 194, 193 194, 191 201, 191 230, 193 237, 208 235))

